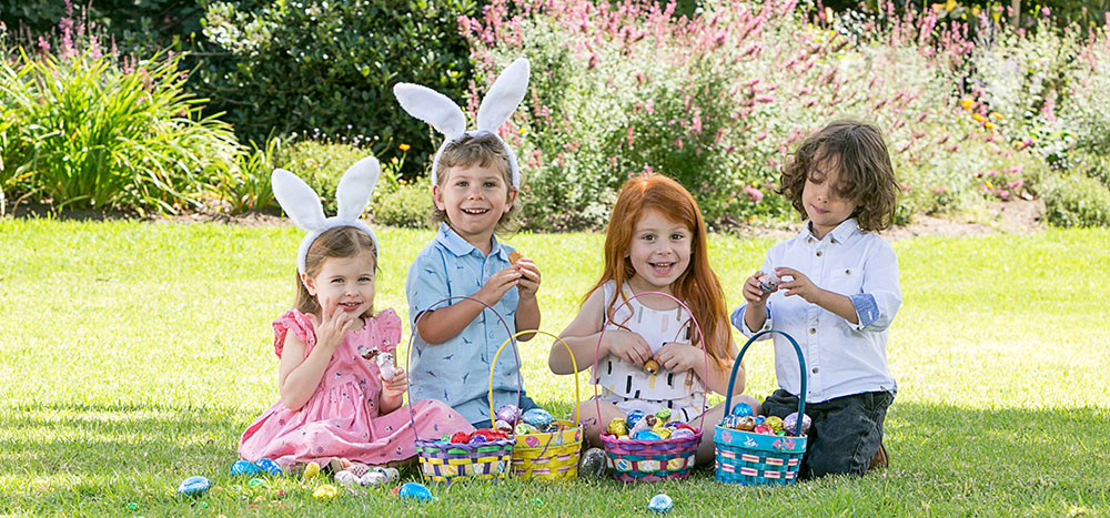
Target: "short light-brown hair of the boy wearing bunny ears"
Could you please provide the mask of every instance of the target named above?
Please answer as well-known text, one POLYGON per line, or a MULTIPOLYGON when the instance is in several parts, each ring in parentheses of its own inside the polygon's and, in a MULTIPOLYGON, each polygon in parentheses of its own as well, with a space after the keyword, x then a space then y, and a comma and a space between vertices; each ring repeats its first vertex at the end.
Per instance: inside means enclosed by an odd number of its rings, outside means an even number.
MULTIPOLYGON (((492 133, 477 136, 466 134, 444 148, 443 154, 440 156, 440 169, 435 172, 440 189, 443 189, 443 185, 446 184, 447 173, 451 172, 451 167, 466 167, 472 165, 496 167, 501 171, 501 175, 505 180, 505 185, 508 190, 513 189, 513 170, 508 165, 508 154, 505 153, 505 148, 501 144, 501 141, 492 133)), ((521 179, 521 181, 523 182, 524 179, 521 179)), ((495 232, 513 231, 515 228, 515 216, 519 213, 519 209, 521 196, 517 195, 513 200, 512 209, 502 214, 501 219, 497 220, 495 232)), ((447 221, 447 213, 433 204, 430 219, 433 224, 438 225, 447 221)))

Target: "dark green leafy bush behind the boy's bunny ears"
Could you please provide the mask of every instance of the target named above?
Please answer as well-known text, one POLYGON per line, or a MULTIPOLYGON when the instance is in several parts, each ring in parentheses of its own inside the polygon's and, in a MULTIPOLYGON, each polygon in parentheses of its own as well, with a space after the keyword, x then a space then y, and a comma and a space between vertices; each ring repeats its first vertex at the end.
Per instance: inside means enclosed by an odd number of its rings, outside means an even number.
MULTIPOLYGON (((204 35, 226 54, 204 60, 198 84, 240 135, 377 135, 369 142, 374 152, 408 142, 415 164, 428 162, 426 130, 397 108, 392 88, 408 81, 462 98, 471 67, 455 18, 473 13, 473 0, 249 7, 209 6, 204 35)), ((410 169, 407 177, 423 172, 410 169)))

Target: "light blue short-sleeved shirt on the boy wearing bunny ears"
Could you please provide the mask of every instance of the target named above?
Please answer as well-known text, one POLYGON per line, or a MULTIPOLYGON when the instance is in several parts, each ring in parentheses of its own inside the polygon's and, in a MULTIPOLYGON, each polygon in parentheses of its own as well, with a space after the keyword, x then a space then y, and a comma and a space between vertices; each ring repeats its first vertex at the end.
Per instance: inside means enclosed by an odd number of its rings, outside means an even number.
MULTIPOLYGON (((408 297, 410 324, 413 333, 412 398, 440 399, 457 410, 470 423, 488 421, 490 364, 512 334, 516 333, 516 290, 505 292, 494 305, 505 317, 508 333, 501 319, 488 308, 474 318, 462 333, 442 344, 428 344, 416 333, 416 316, 428 309, 464 302, 454 299, 435 305, 450 296, 468 296, 485 285, 490 276, 507 268, 513 248, 493 238, 488 256, 466 242, 446 223, 440 225, 435 241, 428 244, 412 266, 405 283, 408 297), (434 307, 433 307, 434 305, 434 307)), ((494 370, 494 409, 516 404, 517 360, 512 345, 497 357, 494 370)), ((488 423, 487 423, 488 424, 488 423)))

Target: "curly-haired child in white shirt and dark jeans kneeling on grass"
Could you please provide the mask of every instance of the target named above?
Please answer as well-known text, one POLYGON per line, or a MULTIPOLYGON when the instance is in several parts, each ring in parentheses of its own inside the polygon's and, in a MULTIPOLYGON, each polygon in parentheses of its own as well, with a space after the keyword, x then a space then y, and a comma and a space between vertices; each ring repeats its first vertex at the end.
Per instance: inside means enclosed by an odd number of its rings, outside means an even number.
MULTIPOLYGON (((887 328, 901 305, 898 258, 872 231, 894 217, 898 183, 879 131, 838 121, 807 138, 783 172, 779 192, 808 217, 797 236, 767 252, 744 284, 731 322, 745 336, 778 329, 801 347, 813 419, 799 478, 862 475, 886 467, 882 420, 897 385, 887 367, 887 328), (781 283, 763 283, 774 274, 781 283)), ((763 413, 797 412, 798 358, 774 336, 779 388, 763 413)))

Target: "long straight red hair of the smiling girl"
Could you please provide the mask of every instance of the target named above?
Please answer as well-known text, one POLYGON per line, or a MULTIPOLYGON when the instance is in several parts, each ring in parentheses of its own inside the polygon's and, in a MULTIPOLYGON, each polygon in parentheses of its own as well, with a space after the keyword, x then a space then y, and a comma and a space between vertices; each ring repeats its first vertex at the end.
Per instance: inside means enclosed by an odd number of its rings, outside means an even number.
MULTIPOLYGON (((678 182, 659 174, 636 176, 620 187, 617 203, 613 206, 608 230, 605 233, 605 268, 602 278, 589 291, 594 293, 613 281, 617 293, 636 274, 628 251, 632 248, 633 233, 636 223, 645 210, 658 211, 670 221, 685 224, 694 234, 690 238, 690 263, 672 284, 675 297, 685 303, 705 333, 706 352, 717 363, 725 367, 730 355, 730 333, 728 314, 725 308, 725 293, 720 288, 717 275, 709 267, 707 254, 705 220, 702 211, 689 191, 678 182)), ((588 298, 588 294, 586 297, 588 298)), ((606 317, 613 313, 617 301, 609 301, 605 309, 606 317)), ((699 337, 690 332, 690 343, 697 344, 699 337)))

